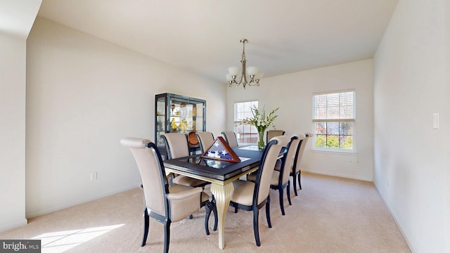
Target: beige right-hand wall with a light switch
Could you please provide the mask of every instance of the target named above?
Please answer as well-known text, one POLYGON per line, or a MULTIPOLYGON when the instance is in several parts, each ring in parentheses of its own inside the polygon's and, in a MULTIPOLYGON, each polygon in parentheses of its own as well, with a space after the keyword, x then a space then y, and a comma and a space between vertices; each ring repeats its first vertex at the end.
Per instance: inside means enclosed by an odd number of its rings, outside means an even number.
POLYGON ((374 58, 374 181, 413 252, 450 252, 448 2, 400 0, 374 58))

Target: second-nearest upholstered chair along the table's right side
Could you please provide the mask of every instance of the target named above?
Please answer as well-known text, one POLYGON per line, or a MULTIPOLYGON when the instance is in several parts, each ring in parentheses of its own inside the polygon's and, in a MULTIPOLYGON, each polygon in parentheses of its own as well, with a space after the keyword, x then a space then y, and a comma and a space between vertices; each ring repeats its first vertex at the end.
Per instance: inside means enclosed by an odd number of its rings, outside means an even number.
MULTIPOLYGON (((283 191, 286 189, 286 195, 288 195, 289 205, 293 205, 290 202, 290 167, 292 166, 292 161, 294 160, 295 154, 297 153, 297 147, 300 143, 298 136, 275 136, 272 140, 278 141, 282 147, 285 147, 283 151, 283 157, 280 161, 276 162, 274 173, 272 174, 272 179, 270 183, 270 188, 278 190, 279 202, 281 208, 281 214, 285 215, 284 211, 284 201, 283 201, 283 191)), ((247 180, 255 181, 256 175, 252 173, 248 176, 247 180)))

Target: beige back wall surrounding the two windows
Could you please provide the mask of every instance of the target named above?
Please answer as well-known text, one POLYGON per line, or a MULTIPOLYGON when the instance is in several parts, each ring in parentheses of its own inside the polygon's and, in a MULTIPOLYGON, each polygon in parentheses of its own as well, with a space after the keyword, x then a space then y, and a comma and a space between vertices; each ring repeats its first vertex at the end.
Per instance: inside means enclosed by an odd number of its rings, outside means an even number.
POLYGON ((303 171, 372 181, 373 176, 373 63, 354 63, 264 78, 259 87, 227 89, 227 126, 233 129, 233 103, 258 100, 266 110, 279 107, 277 129, 286 134, 312 132, 312 96, 323 91, 356 91, 356 153, 311 151, 309 141, 303 171))

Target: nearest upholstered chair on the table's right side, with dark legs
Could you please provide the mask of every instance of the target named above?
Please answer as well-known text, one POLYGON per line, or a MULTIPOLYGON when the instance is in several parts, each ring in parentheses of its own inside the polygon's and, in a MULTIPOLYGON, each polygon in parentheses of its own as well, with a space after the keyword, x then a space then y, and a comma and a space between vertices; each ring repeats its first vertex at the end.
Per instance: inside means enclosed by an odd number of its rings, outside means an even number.
POLYGON ((257 169, 255 182, 236 180, 233 181, 233 195, 231 195, 230 205, 234 207, 235 212, 238 209, 253 212, 253 233, 255 234, 256 245, 261 245, 259 240, 259 209, 266 206, 266 219, 269 228, 272 227, 270 221, 270 183, 272 173, 281 145, 276 140, 269 141, 262 153, 261 162, 257 169))

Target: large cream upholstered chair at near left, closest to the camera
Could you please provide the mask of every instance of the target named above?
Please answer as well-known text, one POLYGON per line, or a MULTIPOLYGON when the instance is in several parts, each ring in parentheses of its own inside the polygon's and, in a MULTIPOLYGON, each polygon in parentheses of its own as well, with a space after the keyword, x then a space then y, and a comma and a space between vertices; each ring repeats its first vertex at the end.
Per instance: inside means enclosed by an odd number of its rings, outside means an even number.
POLYGON ((181 221, 205 206, 205 231, 209 235, 208 219, 215 208, 202 188, 169 186, 161 154, 155 143, 142 138, 122 138, 136 160, 141 174, 144 195, 144 231, 141 247, 146 245, 150 217, 164 224, 164 252, 169 252, 170 224, 181 221))

